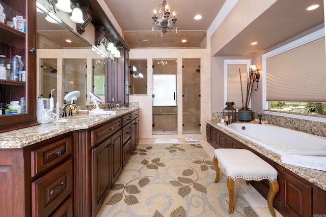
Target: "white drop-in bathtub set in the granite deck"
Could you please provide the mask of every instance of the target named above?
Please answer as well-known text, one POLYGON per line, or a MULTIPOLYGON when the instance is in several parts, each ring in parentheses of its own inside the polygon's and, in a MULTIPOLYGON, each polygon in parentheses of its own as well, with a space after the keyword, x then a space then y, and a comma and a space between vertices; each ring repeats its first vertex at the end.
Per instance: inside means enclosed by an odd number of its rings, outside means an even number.
POLYGON ((268 124, 235 122, 218 126, 275 153, 326 154, 326 138, 268 124))

